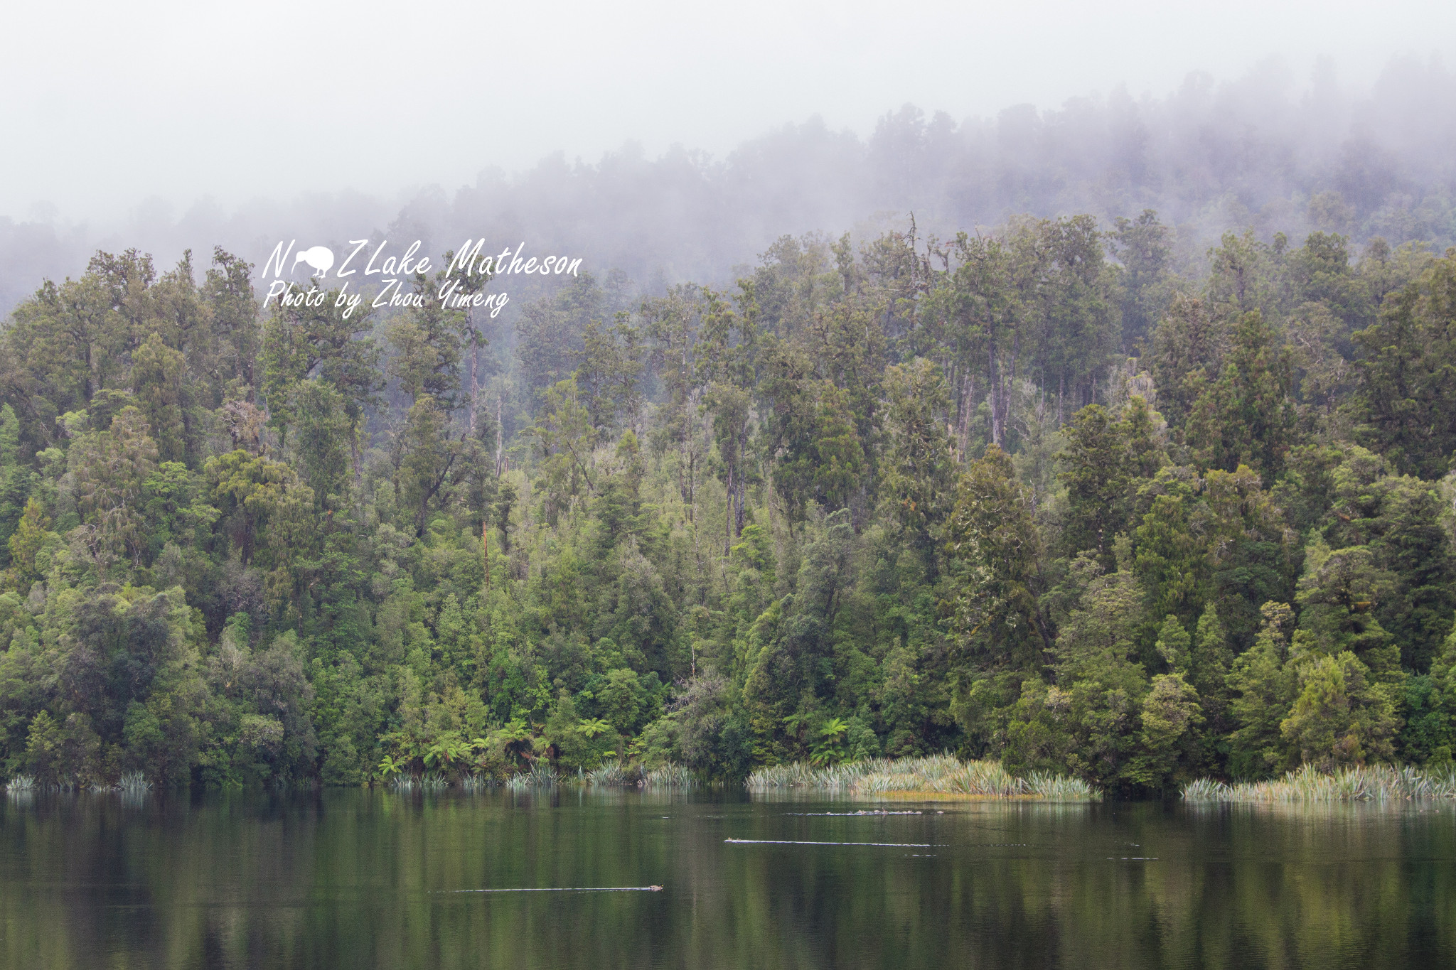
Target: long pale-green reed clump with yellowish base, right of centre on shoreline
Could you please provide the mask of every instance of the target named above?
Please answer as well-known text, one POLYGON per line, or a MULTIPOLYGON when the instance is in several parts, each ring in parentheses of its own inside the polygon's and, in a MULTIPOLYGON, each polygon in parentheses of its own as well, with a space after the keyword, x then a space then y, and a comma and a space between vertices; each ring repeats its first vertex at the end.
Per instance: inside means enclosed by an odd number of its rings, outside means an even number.
POLYGON ((869 758, 815 768, 804 762, 760 768, 748 775, 750 791, 814 788, 855 795, 941 794, 1035 801, 1095 801, 1101 794, 1080 778, 1032 772, 1018 777, 999 761, 967 761, 952 755, 869 758))

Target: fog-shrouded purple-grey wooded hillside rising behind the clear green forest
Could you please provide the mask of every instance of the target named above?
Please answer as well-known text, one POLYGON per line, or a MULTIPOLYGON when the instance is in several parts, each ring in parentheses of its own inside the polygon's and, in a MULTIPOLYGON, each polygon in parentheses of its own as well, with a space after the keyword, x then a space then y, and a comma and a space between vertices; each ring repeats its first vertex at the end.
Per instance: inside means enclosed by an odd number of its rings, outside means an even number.
MULTIPOLYGON (((904 228, 922 236, 990 228, 1029 214, 1117 217, 1156 209, 1175 227, 1184 275, 1204 272, 1224 230, 1456 241, 1456 77, 1437 58, 1395 58, 1369 90, 1309 79, 1268 61, 1243 77, 1192 73, 1160 97, 1125 89, 1040 111, 1013 105, 957 119, 913 105, 872 132, 818 118, 769 131, 727 157, 633 144, 596 161, 555 154, 524 172, 488 169, 475 185, 396 198, 357 192, 255 199, 143 201, 119 223, 66 223, 54 207, 0 217, 0 313, 45 278, 76 276, 96 249, 137 247, 170 266, 185 249, 223 246, 261 265, 280 240, 424 240, 441 253, 464 239, 585 257, 620 270, 644 295, 697 281, 725 284, 785 234, 904 228)), ((530 295, 530 294, 521 294, 530 295)), ((524 305, 515 301, 515 308, 524 305)), ((510 313, 507 317, 510 317, 510 313)))

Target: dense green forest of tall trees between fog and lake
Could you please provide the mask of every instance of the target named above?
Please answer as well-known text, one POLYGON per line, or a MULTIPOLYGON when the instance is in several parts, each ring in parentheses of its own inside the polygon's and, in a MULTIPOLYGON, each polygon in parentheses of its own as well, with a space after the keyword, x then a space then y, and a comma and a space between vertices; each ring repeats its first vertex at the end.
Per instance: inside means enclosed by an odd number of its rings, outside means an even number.
POLYGON ((909 221, 508 332, 96 253, 0 333, 0 777, 1444 765, 1456 250, 1172 247, 909 221))

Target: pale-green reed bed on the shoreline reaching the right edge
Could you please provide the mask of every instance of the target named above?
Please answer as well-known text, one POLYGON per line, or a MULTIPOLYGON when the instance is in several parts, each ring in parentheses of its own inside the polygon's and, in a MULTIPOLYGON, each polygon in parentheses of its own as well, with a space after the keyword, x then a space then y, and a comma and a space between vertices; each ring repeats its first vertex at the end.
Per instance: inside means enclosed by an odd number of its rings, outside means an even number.
POLYGON ((1226 782, 1211 778, 1182 788, 1184 801, 1332 803, 1456 798, 1456 772, 1364 765, 1321 772, 1310 765, 1270 781, 1226 782))

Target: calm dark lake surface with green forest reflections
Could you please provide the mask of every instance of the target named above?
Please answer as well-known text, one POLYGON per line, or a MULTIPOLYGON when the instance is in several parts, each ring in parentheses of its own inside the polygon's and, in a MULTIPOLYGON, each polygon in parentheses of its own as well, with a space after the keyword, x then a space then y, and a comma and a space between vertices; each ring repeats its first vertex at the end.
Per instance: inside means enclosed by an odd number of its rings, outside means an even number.
POLYGON ((1450 807, 823 814, 862 807, 569 788, 0 797, 0 964, 1456 966, 1450 807))

